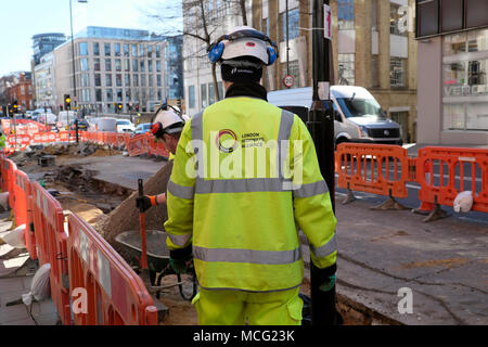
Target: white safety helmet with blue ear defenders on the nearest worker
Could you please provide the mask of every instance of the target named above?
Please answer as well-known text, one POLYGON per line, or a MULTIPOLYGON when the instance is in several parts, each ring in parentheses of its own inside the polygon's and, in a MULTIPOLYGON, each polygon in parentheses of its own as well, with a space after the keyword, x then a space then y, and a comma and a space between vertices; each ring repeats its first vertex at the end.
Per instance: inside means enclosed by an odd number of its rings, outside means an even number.
POLYGON ((261 31, 241 26, 221 36, 208 49, 208 59, 213 63, 240 56, 254 56, 265 65, 271 65, 278 59, 278 46, 261 31))

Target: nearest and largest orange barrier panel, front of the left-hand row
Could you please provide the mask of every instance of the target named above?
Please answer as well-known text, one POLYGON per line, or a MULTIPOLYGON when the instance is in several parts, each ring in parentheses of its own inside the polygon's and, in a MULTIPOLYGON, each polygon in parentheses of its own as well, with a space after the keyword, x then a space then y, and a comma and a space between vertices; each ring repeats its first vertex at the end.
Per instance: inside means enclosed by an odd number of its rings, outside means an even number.
POLYGON ((87 222, 68 217, 69 291, 87 291, 76 325, 157 325, 157 310, 141 279, 87 222))

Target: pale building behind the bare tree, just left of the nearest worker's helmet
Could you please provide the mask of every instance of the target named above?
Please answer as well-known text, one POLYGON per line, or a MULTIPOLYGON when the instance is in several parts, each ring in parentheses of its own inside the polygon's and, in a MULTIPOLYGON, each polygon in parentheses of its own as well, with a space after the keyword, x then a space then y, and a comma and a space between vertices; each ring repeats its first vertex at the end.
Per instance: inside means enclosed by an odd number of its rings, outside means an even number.
MULTIPOLYGON (((251 16, 252 1, 246 0, 247 25, 253 26, 251 16)), ((241 7, 237 1, 207 0, 205 2, 205 18, 208 24, 210 39, 216 40, 235 26, 243 25, 241 7)), ((202 15, 197 3, 183 0, 183 31, 189 34, 203 33, 202 15)), ((215 103, 217 95, 208 61, 206 43, 193 35, 183 36, 183 76, 184 100, 188 115, 194 115, 200 110, 215 103)), ((223 99, 222 79, 217 68, 217 88, 220 99, 223 99)))

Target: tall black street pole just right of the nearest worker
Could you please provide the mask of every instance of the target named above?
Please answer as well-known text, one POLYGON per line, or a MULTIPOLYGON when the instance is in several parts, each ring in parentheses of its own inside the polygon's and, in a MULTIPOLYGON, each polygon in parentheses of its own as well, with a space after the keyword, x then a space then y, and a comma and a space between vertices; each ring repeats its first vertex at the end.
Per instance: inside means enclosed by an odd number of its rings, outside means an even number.
MULTIPOLYGON (((330 100, 331 41, 324 37, 324 5, 330 0, 313 0, 312 12, 312 65, 313 103, 307 127, 313 139, 320 170, 328 183, 335 211, 335 172, 334 172, 334 118, 330 100)), ((337 324, 335 309, 335 285, 331 291, 320 290, 320 269, 310 259, 310 295, 312 300, 311 320, 313 325, 337 324)))

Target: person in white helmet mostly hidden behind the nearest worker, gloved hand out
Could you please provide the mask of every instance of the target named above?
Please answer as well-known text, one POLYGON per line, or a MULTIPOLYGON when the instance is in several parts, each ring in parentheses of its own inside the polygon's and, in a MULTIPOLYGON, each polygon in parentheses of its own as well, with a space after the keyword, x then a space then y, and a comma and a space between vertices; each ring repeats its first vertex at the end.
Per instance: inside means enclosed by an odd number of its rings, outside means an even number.
MULTIPOLYGON (((169 162, 175 158, 175 152, 178 146, 184 120, 167 105, 156 111, 156 117, 151 126, 151 133, 159 141, 163 141, 169 152, 169 162)), ((171 163, 172 164, 172 163, 171 163)), ((155 205, 166 204, 166 193, 158 195, 145 195, 136 198, 136 206, 143 208, 144 211, 155 205)))

